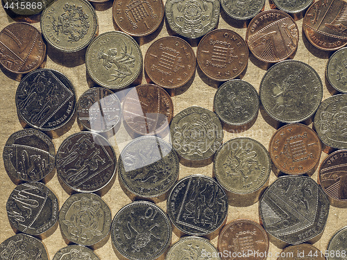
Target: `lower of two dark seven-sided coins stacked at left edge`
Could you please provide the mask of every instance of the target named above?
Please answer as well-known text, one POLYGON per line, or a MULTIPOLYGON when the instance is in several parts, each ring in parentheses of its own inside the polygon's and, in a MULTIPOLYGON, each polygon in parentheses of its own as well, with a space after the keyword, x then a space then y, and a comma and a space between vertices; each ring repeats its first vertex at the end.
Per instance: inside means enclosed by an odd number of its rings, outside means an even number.
POLYGON ((12 191, 6 211, 15 230, 38 236, 58 221, 58 198, 41 182, 26 182, 12 191))

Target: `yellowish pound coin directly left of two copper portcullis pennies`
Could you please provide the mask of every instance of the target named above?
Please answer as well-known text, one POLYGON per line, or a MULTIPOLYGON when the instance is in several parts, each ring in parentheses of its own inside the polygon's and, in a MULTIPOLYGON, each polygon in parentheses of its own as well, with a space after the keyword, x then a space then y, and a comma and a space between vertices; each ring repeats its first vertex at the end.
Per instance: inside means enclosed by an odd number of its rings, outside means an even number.
POLYGON ((88 46, 85 66, 97 84, 121 89, 133 83, 142 71, 142 52, 126 33, 102 33, 88 46))

